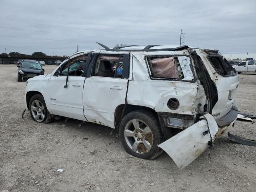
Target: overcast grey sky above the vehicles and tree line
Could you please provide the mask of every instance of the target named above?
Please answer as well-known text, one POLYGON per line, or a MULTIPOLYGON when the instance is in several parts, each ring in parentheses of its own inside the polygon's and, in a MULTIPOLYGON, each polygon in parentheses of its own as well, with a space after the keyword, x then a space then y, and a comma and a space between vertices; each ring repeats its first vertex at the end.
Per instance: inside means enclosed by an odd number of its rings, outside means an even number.
POLYGON ((256 58, 255 0, 0 0, 0 7, 0 53, 179 45, 182 29, 184 45, 256 58))

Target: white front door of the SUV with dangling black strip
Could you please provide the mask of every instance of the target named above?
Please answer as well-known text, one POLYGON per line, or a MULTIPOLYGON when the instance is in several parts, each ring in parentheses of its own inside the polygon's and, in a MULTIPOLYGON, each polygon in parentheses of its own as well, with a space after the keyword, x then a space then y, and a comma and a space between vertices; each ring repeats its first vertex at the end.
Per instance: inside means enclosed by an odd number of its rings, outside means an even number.
POLYGON ((47 108, 51 114, 86 121, 83 111, 83 87, 86 78, 81 76, 86 58, 87 55, 71 58, 49 79, 47 108), (67 74, 68 82, 65 86, 67 74))

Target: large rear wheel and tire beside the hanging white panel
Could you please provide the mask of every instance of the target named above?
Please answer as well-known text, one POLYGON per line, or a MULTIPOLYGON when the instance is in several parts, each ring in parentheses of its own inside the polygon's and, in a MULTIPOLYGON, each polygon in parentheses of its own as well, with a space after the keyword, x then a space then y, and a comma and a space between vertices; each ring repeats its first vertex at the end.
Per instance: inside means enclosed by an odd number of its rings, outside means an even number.
POLYGON ((160 124, 147 110, 126 114, 120 123, 119 136, 126 152, 138 158, 154 159, 163 152, 158 147, 164 141, 160 124))

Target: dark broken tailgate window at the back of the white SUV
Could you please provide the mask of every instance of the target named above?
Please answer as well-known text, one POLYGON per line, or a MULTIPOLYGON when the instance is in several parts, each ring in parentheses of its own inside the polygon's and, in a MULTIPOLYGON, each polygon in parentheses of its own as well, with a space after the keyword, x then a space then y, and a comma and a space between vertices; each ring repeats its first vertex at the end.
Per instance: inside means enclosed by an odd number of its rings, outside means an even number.
POLYGON ((234 75, 236 72, 232 68, 232 66, 228 63, 228 61, 222 57, 209 57, 210 62, 214 66, 216 72, 222 75, 234 75))

